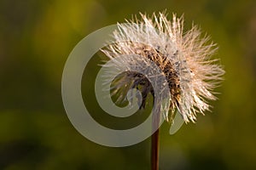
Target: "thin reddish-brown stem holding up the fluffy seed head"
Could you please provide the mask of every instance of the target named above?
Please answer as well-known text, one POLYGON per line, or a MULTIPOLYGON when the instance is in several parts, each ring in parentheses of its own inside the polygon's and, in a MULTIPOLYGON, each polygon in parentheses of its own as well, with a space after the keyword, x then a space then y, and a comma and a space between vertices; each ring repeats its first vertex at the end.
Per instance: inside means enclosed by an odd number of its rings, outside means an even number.
POLYGON ((153 116, 153 129, 157 130, 151 136, 151 170, 159 170, 159 122, 160 114, 157 111, 153 116))

